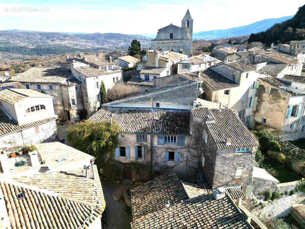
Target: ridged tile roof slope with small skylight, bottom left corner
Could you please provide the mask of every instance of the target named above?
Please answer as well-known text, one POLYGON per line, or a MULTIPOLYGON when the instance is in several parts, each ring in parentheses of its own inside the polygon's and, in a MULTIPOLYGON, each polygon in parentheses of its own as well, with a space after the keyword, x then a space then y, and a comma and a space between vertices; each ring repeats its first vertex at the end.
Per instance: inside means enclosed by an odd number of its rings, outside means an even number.
POLYGON ((102 214, 91 205, 22 184, 0 181, 0 187, 9 217, 10 225, 5 225, 6 228, 85 229, 102 214), (17 198, 19 192, 24 195, 22 199, 17 198))

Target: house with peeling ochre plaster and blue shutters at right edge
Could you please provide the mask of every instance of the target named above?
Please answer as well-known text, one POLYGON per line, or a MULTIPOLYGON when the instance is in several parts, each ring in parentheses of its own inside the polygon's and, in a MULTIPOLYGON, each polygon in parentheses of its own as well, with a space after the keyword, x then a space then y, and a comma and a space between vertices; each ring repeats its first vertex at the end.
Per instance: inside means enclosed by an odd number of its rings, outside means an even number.
POLYGON ((304 87, 304 84, 274 77, 262 77, 259 81, 260 84, 256 90, 257 105, 253 109, 256 125, 274 128, 286 140, 304 137, 305 94, 298 93, 302 90, 301 88, 295 89, 296 85, 304 87))

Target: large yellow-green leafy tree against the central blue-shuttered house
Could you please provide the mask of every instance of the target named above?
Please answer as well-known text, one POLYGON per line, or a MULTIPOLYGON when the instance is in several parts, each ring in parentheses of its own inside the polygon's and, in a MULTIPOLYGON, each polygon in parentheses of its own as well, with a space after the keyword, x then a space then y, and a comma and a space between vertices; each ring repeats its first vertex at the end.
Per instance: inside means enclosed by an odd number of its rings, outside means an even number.
MULTIPOLYGON (((77 122, 66 130, 66 138, 72 146, 96 158, 98 167, 105 164, 107 155, 118 146, 119 126, 109 122, 77 122)), ((111 157, 110 157, 111 158, 111 157)))

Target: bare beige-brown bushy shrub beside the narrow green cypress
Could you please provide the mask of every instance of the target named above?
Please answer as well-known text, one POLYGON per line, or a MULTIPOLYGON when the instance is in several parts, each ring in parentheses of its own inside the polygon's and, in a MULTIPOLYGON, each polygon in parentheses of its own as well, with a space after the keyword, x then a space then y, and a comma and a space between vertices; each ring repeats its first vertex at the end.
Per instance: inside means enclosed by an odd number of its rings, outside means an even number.
POLYGON ((140 93, 138 86, 120 82, 116 83, 111 89, 108 89, 107 96, 109 101, 113 101, 138 93, 140 93))

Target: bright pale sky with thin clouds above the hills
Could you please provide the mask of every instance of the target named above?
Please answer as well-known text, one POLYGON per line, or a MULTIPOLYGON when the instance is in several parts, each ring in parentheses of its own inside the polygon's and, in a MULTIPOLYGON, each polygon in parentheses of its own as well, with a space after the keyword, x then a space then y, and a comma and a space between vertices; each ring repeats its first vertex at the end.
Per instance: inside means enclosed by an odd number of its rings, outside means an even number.
POLYGON ((0 30, 156 34, 189 9, 193 32, 294 15, 304 0, 0 0, 0 30), (278 5, 281 5, 278 7, 278 5))

